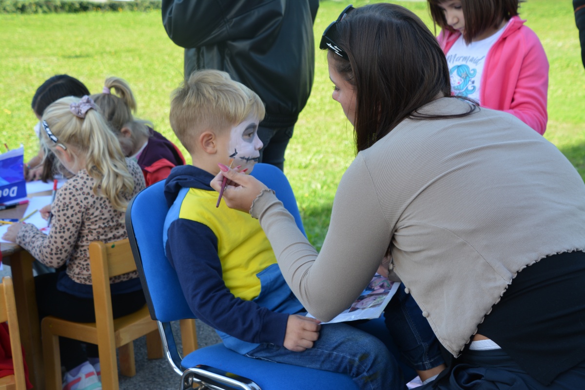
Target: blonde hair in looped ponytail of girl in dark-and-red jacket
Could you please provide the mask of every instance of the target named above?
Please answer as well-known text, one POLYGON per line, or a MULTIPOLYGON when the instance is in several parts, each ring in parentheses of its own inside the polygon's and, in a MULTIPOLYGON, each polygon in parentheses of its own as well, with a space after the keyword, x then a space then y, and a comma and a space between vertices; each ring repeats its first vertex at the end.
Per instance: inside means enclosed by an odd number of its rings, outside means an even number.
POLYGON ((119 77, 109 77, 104 82, 104 90, 106 93, 95 93, 91 95, 91 98, 94 99, 99 111, 116 135, 123 127, 128 127, 132 131, 132 138, 135 138, 137 134, 150 135, 147 126, 153 127, 153 124, 149 121, 135 119, 132 115, 132 112, 136 113, 136 99, 125 80, 119 77), (118 96, 109 92, 112 88, 118 96))

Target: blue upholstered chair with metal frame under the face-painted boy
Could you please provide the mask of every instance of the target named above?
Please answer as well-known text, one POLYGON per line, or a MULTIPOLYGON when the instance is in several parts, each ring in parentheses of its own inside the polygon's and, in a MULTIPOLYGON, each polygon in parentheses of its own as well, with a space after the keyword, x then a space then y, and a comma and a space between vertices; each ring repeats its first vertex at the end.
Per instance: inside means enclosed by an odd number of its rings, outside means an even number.
MULTIPOLYGON (((304 233, 294 193, 284 173, 259 163, 252 174, 274 189, 304 233)), ((356 389, 348 375, 256 360, 229 350, 223 343, 197 349, 181 358, 170 322, 195 315, 164 253, 163 224, 168 208, 163 189, 164 182, 159 182, 137 194, 126 212, 126 228, 150 315, 158 322, 168 361, 182 375, 180 388, 190 389, 197 383, 219 389, 356 389), (253 381, 242 375, 253 377, 253 381)), ((379 322, 382 333, 387 334, 383 321, 379 322)))

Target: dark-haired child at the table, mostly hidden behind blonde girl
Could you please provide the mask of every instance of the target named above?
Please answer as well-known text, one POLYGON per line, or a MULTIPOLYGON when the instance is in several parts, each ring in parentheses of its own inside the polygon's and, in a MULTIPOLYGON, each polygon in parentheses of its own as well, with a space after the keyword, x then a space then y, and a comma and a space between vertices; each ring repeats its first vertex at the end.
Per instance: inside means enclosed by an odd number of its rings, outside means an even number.
MULTIPOLYGON (((37 137, 40 137, 40 118, 43 116, 44 109, 51 103, 61 99, 61 97, 81 97, 84 95, 90 95, 90 91, 81 81, 69 75, 54 75, 42 83, 37 88, 32 103, 30 103, 30 107, 32 107, 37 119, 39 119, 39 123, 35 126, 37 137)), ((58 161, 53 153, 45 156, 43 149, 39 148, 39 153, 25 165, 26 180, 40 179, 43 182, 53 180, 54 174, 59 170, 55 166, 57 163, 58 161)))

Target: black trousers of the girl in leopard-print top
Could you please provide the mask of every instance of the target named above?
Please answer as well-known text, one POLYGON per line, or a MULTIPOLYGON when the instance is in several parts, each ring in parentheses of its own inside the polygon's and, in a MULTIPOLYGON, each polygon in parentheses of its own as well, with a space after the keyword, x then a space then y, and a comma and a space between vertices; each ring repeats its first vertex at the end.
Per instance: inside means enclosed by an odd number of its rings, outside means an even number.
MULTIPOLYGON (((48 273, 35 277, 35 289, 37 306, 39 307, 39 319, 47 315, 75 322, 95 322, 94 300, 79 298, 75 295, 63 293, 57 290, 57 277, 59 273, 48 273)), ((112 294, 113 318, 119 318, 138 311, 144 306, 146 300, 142 290, 126 294, 112 294)), ((67 371, 73 370, 88 357, 98 357, 98 346, 59 337, 61 349, 61 365, 67 371)))

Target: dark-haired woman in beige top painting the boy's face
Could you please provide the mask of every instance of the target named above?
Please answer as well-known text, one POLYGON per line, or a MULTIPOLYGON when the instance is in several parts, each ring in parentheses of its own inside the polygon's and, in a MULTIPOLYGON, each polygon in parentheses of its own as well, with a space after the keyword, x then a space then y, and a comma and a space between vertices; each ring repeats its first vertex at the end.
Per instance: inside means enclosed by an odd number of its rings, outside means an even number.
POLYGON ((581 388, 585 184, 571 163, 511 114, 450 96, 438 41, 401 6, 346 9, 321 48, 358 152, 321 252, 253 177, 221 166, 212 187, 230 180, 226 204, 259 218, 287 283, 323 321, 390 251, 388 271, 452 356, 422 388, 581 388))

